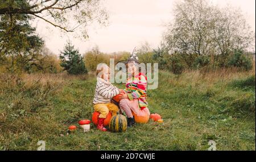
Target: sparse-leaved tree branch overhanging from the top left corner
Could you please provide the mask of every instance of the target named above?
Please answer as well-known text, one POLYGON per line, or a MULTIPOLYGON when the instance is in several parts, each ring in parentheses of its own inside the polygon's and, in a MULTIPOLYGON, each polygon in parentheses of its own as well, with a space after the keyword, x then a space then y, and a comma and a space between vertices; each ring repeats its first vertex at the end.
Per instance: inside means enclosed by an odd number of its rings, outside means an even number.
POLYGON ((66 32, 73 32, 77 28, 82 31, 82 36, 87 38, 87 22, 98 20, 98 23, 104 24, 108 20, 105 9, 101 9, 100 0, 38 0, 27 1, 24 6, 15 6, 7 3, 0 7, 1 15, 26 14, 36 16, 54 27, 58 27, 66 32), (76 7, 76 8, 75 8, 76 7), (75 8, 74 11, 71 9, 75 8), (105 16, 106 14, 106 16, 105 16), (50 18, 47 18, 49 16, 50 18), (74 20, 76 21, 73 24, 74 20), (66 26, 66 24, 70 24, 66 26))

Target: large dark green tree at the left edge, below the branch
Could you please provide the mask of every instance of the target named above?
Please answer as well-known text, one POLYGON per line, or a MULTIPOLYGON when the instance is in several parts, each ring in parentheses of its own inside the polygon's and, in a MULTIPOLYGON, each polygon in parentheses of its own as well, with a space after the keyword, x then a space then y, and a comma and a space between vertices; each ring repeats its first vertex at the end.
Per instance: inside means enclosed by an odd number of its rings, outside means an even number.
POLYGON ((25 14, 0 15, 0 65, 7 65, 10 71, 38 60, 44 41, 31 27, 31 19, 25 14))

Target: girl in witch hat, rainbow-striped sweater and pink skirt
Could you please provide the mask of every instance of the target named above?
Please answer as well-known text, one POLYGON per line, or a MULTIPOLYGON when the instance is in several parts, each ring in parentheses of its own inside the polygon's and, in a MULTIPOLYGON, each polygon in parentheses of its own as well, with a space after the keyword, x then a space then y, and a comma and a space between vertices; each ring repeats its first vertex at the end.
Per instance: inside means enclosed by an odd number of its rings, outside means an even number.
POLYGON ((135 52, 133 52, 125 64, 128 70, 128 78, 126 88, 124 89, 125 93, 122 93, 119 97, 121 98, 119 106, 127 115, 127 127, 131 127, 135 124, 133 113, 138 117, 149 118, 150 116, 146 101, 147 77, 143 72, 139 72, 139 61, 135 52))

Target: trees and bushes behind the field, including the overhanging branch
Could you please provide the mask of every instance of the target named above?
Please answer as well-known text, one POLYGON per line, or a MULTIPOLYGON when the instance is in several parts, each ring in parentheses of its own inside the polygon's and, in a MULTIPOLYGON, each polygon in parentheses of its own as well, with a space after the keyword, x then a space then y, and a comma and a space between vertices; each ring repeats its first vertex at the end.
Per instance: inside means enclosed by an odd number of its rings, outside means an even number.
MULTIPOLYGON (((109 64, 110 58, 117 63, 130 55, 130 52, 103 53, 97 46, 81 55, 68 41, 56 56, 45 47, 36 28, 31 27, 31 20, 42 19, 64 32, 77 30, 80 36, 88 38, 88 22, 95 20, 104 25, 108 20, 99 1, 9 0, 0 4, 0 72, 2 69, 28 73, 63 70, 70 74, 87 73, 95 70, 98 63, 109 64), (78 27, 70 27, 73 20, 78 27)), ((221 8, 206 0, 184 0, 175 3, 173 14, 174 19, 166 24, 158 48, 152 49, 148 43, 139 47, 138 57, 142 63, 159 63, 160 69, 176 74, 204 67, 252 68, 253 63, 246 54, 252 47, 255 50, 255 32, 241 10, 232 6, 221 8)))

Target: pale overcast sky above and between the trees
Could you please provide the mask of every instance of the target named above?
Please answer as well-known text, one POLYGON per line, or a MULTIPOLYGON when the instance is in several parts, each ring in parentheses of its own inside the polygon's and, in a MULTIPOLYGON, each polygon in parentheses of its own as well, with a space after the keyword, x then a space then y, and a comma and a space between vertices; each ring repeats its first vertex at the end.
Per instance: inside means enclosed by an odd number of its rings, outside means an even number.
MULTIPOLYGON (((209 0, 214 4, 230 4, 240 7, 247 21, 255 31, 255 0, 209 0)), ((147 41, 152 48, 159 45, 164 24, 172 19, 175 0, 105 0, 109 12, 109 26, 89 29, 89 40, 73 38, 72 34, 60 34, 59 29, 38 20, 34 25, 45 40, 46 46, 55 54, 63 49, 68 39, 80 53, 98 45, 102 52, 133 51, 147 41)))

